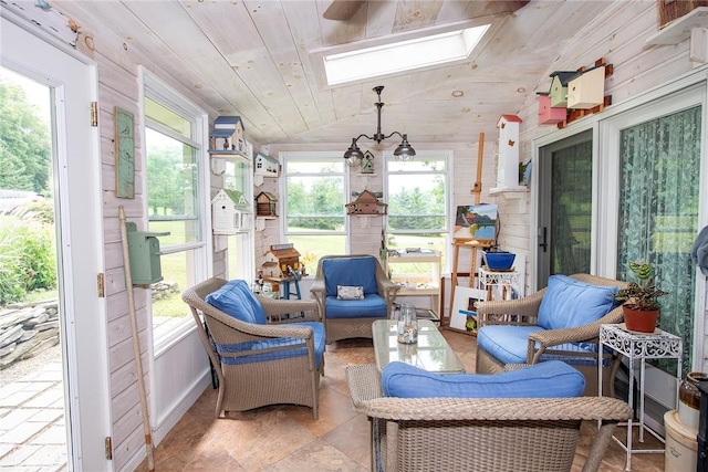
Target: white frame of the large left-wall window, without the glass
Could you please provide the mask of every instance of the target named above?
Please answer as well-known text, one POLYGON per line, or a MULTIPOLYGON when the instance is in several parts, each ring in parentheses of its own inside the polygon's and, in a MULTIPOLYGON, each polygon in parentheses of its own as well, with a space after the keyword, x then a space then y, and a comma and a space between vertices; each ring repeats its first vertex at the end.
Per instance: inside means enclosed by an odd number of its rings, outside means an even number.
MULTIPOLYGON (((192 252, 192 256, 195 260, 192 266, 192 276, 196 282, 204 281, 211 276, 212 273, 212 249, 211 249, 211 228, 210 228, 210 198, 209 198, 209 166, 208 166, 208 123, 209 117, 208 114, 202 111, 200 107, 195 105, 188 98, 180 95, 178 92, 173 90, 165 82, 159 80, 149 71, 140 67, 140 76, 143 87, 140 88, 140 113, 142 113, 142 136, 146 136, 146 129, 150 128, 160 134, 164 134, 170 138, 177 139, 178 141, 189 145, 195 148, 196 153, 196 165, 197 165, 197 185, 198 188, 195 190, 195 196, 198 201, 196 202, 195 209, 198 211, 198 214, 194 217, 199 220, 199 240, 191 243, 183 243, 175 244, 169 247, 160 247, 160 256, 176 254, 179 252, 192 252), (145 116, 145 99, 150 98, 154 102, 157 102, 162 106, 170 109, 171 112, 180 115, 185 119, 191 123, 191 137, 186 138, 184 135, 180 135, 173 130, 171 128, 148 119, 145 116)), ((147 188, 147 143, 146 139, 143 140, 142 145, 143 151, 143 166, 145 170, 146 178, 143 181, 143 210, 144 210, 144 223, 145 227, 149 224, 149 208, 148 208, 148 188, 147 188)), ((188 218, 192 219, 192 218, 188 218)), ((186 221, 185 219, 178 219, 179 221, 186 221)), ((180 323, 175 324, 169 329, 164 332, 156 333, 153 328, 153 310, 152 310, 152 298, 148 297, 147 310, 150 314, 149 316, 149 326, 150 334, 153 339, 153 355, 154 357, 158 357, 162 353, 168 350, 171 346, 179 343, 185 336, 191 333, 195 329, 194 322, 191 317, 186 314, 184 319, 180 323)))

